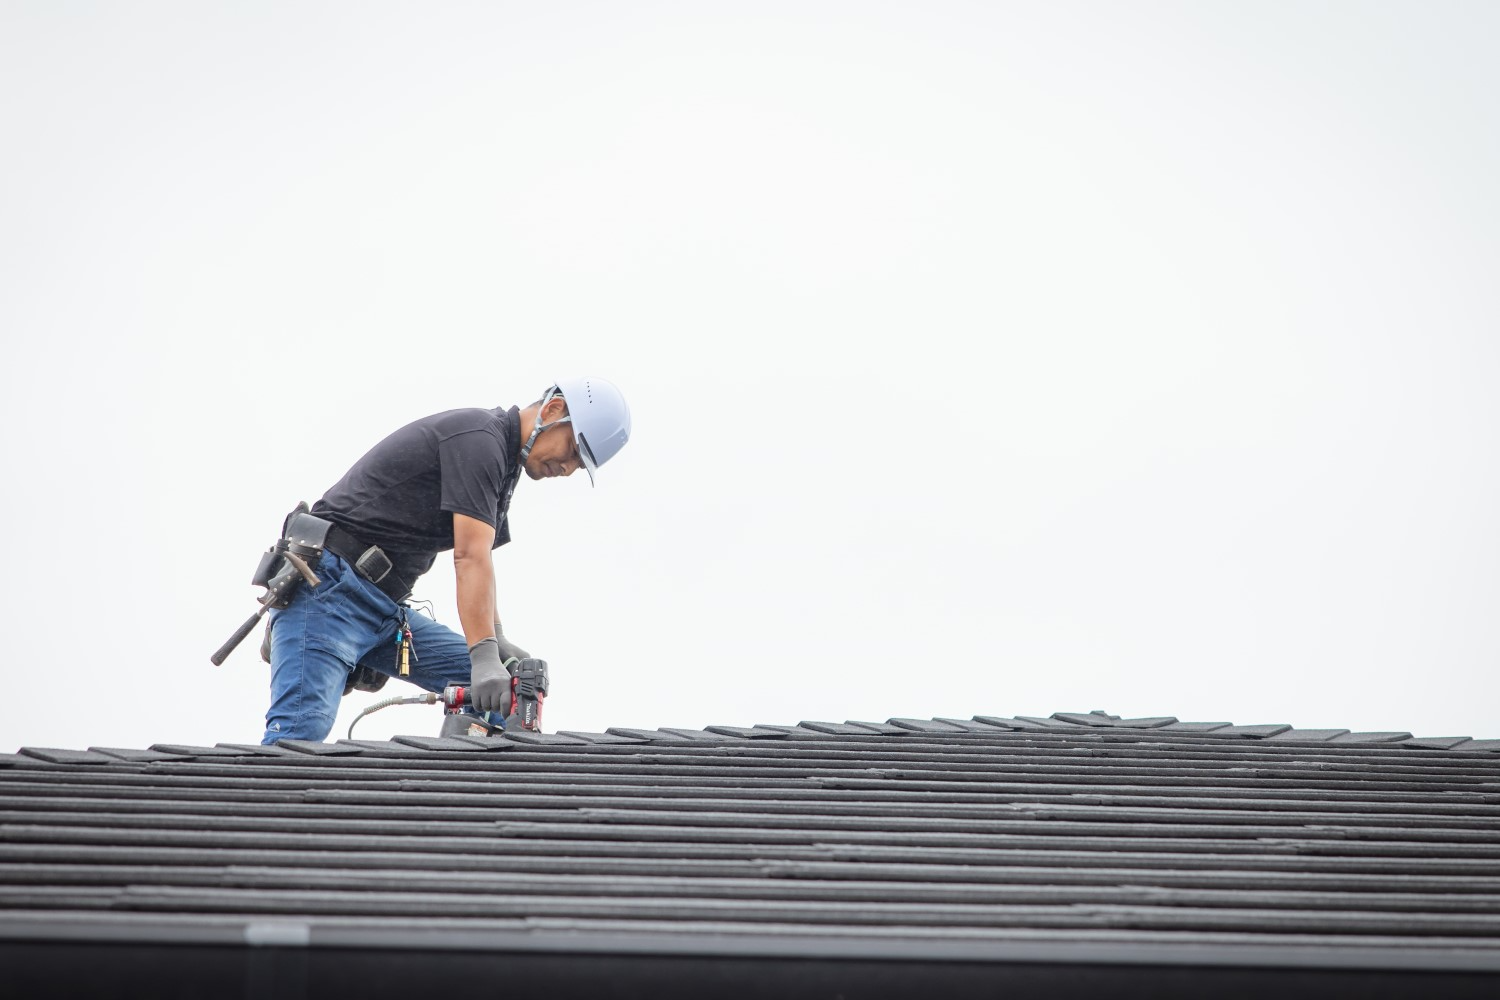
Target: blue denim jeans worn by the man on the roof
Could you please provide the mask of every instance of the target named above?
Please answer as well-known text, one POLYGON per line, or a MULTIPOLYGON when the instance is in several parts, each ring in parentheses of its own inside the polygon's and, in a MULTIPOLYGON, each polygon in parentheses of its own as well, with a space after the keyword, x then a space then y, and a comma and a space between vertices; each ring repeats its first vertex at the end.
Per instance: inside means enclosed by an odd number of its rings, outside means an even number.
MULTIPOLYGON (((316 573, 316 588, 303 583, 291 604, 270 612, 272 706, 262 744, 326 739, 356 666, 398 672, 396 625, 405 609, 332 552, 322 553, 316 573)), ((418 612, 406 612, 406 622, 416 655, 404 679, 426 691, 468 684, 464 636, 418 612)), ((435 721, 434 735, 436 729, 435 721)))

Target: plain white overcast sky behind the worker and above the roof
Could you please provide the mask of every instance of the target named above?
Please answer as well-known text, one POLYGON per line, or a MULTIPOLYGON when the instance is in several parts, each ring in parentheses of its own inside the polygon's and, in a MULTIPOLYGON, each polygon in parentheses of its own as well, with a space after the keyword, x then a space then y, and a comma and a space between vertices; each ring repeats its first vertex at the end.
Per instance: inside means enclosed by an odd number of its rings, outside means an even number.
POLYGON ((0 750, 258 741, 255 639, 208 654, 286 508, 570 373, 634 439, 496 553, 550 730, 1500 736, 1497 31, 8 0, 0 750))

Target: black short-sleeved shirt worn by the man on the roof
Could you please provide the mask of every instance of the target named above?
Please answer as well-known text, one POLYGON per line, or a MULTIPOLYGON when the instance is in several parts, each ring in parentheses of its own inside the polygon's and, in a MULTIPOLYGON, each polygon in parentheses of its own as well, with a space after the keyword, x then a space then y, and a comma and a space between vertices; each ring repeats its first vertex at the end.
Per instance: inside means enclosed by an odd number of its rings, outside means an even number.
POLYGON ((502 508, 519 471, 520 411, 450 409, 416 420, 364 453, 312 513, 380 546, 406 583, 453 547, 453 514, 510 541, 502 508))

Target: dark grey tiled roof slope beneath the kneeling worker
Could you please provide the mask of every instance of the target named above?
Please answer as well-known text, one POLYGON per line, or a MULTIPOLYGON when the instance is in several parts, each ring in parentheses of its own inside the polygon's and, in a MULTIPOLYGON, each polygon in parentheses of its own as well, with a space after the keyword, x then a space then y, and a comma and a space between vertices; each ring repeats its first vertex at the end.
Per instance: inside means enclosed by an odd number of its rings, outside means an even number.
POLYGON ((0 940, 1500 972, 1500 741, 1164 720, 27 750, 0 940))

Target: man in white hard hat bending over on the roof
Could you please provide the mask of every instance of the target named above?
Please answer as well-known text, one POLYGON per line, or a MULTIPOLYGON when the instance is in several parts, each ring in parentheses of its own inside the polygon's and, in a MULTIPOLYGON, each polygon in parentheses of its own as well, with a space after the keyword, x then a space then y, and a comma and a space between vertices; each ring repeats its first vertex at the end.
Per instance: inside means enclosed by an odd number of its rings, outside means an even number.
POLYGON ((548 480, 584 468, 592 483, 628 439, 620 390, 574 378, 525 409, 450 409, 370 448, 312 505, 312 517, 332 522, 318 586, 300 586, 270 612, 261 655, 272 664, 272 705, 261 742, 327 738, 344 694, 400 675, 402 646, 404 679, 428 691, 468 685, 472 711, 504 720, 506 664, 530 654, 501 628, 490 553, 510 541, 520 472, 548 480), (408 604, 417 577, 450 549, 462 634, 408 604))

